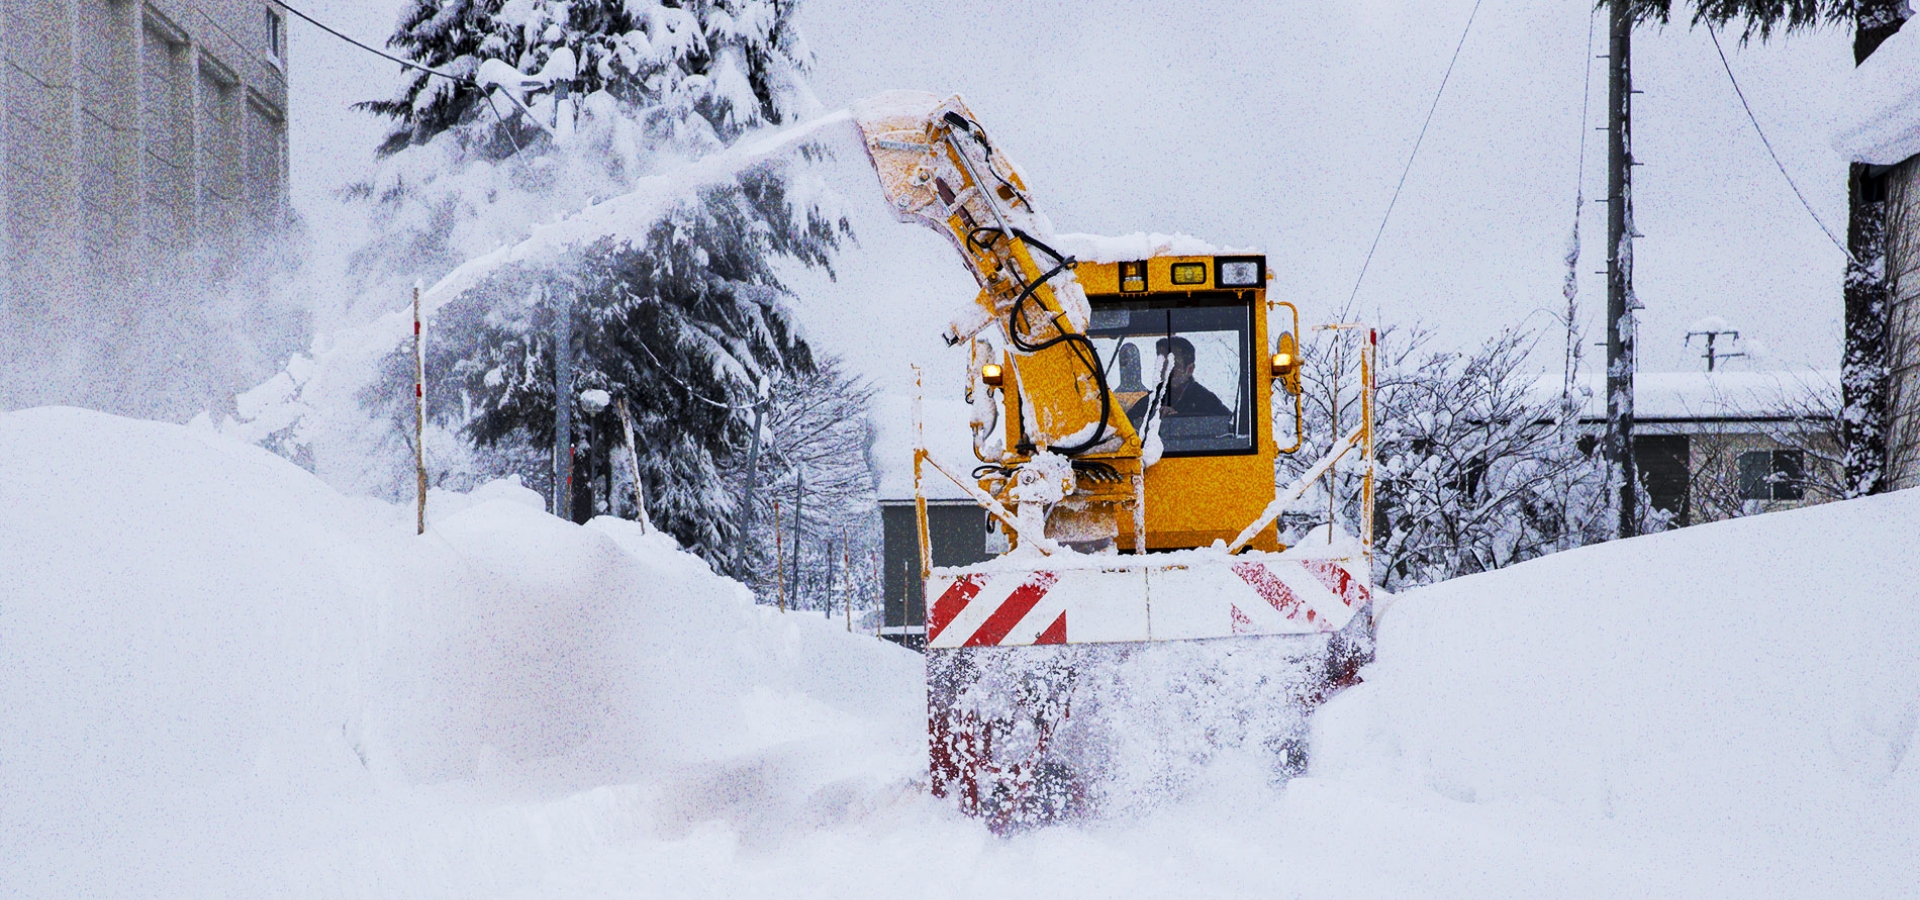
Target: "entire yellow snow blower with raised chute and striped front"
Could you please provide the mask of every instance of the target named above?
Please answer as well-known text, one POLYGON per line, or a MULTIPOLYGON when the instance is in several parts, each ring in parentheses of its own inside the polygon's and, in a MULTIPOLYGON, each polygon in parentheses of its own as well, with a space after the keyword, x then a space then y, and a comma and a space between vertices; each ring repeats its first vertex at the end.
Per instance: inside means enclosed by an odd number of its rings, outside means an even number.
MULTIPOLYGON (((852 117, 897 217, 947 234, 979 282, 945 332, 970 353, 977 459, 914 451, 931 791, 1012 829, 1142 802, 1227 750, 1298 771, 1306 712, 1373 645, 1373 332, 1346 334, 1359 422, 1277 487, 1306 443, 1300 313, 1267 297, 1263 255, 1075 259, 958 96, 852 117), (1329 514, 1283 547, 1277 518, 1331 497, 1342 461, 1357 535, 1329 514), (927 478, 1010 549, 933 568, 927 478)), ((918 399, 914 416, 920 434, 918 399)))

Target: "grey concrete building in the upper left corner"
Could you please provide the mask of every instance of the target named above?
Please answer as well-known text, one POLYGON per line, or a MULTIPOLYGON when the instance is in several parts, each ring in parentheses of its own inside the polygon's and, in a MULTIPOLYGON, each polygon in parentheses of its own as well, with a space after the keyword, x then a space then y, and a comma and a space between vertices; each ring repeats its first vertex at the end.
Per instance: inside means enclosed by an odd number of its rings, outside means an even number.
POLYGON ((267 0, 0 0, 0 407, 17 407, 142 365, 102 347, 180 319, 169 303, 282 228, 286 23, 267 0))

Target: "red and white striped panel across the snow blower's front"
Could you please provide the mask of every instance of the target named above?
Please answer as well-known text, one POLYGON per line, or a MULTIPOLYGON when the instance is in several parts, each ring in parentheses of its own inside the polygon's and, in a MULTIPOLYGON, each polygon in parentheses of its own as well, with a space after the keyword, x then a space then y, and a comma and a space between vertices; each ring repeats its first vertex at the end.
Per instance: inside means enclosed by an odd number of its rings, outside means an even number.
POLYGON ((1338 631, 1367 604, 1363 560, 947 568, 927 581, 927 647, 1190 641, 1338 631))

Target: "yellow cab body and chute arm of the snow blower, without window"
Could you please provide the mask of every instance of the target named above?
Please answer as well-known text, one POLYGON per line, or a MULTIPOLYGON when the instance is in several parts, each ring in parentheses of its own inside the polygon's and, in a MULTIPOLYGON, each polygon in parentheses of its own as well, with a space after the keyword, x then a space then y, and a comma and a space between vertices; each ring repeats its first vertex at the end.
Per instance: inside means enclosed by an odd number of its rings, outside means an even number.
MULTIPOLYGON (((981 365, 972 372, 972 390, 996 393, 1002 409, 1002 439, 981 457, 991 466, 977 482, 983 495, 1018 509, 1020 466, 1058 451, 1073 459, 1075 484, 1048 507, 1050 541, 1110 543, 1121 553, 1206 547, 1231 541, 1260 516, 1273 501, 1281 453, 1269 414, 1273 340, 1263 280, 1223 288, 1215 257, 1167 255, 1127 261, 1133 278, 1123 284, 1117 261, 1056 257, 1025 178, 958 96, 891 92, 856 104, 854 115, 897 217, 945 232, 979 284, 972 309, 948 324, 948 343, 979 340, 996 326, 987 340, 996 338, 1002 349, 1000 372, 981 365), (1089 317, 1106 303, 1200 296, 1248 309, 1250 345, 1235 395, 1248 391, 1252 401, 1252 441, 1233 453, 1169 453, 1142 466, 1142 438, 1127 416, 1139 391, 1125 395, 1106 382, 1114 361, 1094 351, 1089 317)), ((1265 272, 1261 257, 1235 259, 1258 259, 1265 272)), ((1288 451, 1300 443, 1294 432, 1286 439, 1288 451)), ((918 462, 920 455, 916 474, 918 462)), ((1016 533, 1008 537, 1018 543, 1016 533)), ((1271 526, 1250 545, 1279 549, 1271 526)))

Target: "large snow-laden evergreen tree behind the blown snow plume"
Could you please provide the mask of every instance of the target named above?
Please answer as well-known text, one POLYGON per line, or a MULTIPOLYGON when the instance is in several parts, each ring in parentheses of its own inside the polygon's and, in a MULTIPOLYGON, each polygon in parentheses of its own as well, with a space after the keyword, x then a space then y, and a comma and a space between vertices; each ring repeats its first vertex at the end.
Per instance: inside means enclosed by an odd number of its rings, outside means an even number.
MULTIPOLYGON (((787 0, 415 0, 390 44, 476 81, 415 73, 365 104, 396 127, 361 186, 380 234, 355 265, 394 294, 810 111, 791 13, 787 0)), ((762 163, 566 265, 457 297, 430 326, 434 420, 470 438, 472 474, 547 482, 553 324, 570 309, 576 484, 611 484, 618 418, 578 407, 582 390, 605 390, 636 414, 653 520, 737 572, 737 486, 722 468, 745 447, 758 386, 812 370, 778 265, 828 267, 847 225, 822 196, 818 178, 762 163)), ((588 507, 618 509, 605 491, 588 507)))

